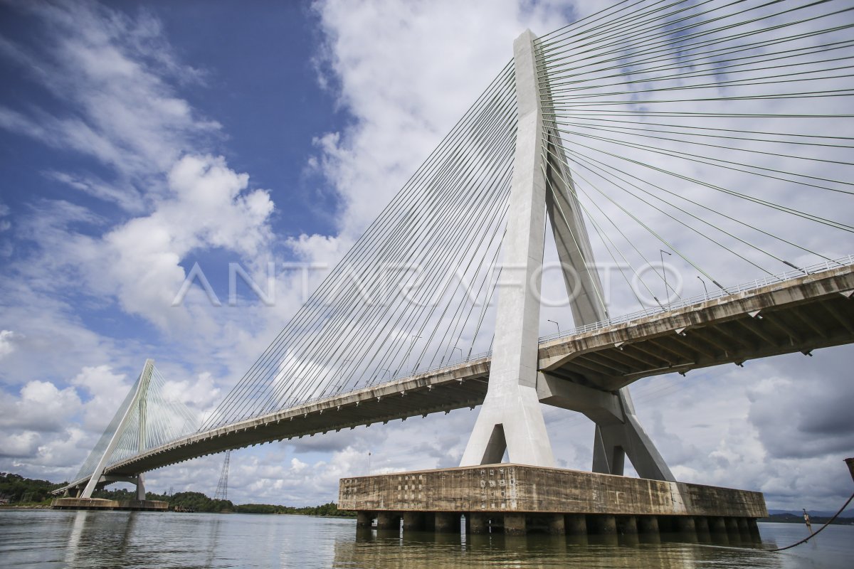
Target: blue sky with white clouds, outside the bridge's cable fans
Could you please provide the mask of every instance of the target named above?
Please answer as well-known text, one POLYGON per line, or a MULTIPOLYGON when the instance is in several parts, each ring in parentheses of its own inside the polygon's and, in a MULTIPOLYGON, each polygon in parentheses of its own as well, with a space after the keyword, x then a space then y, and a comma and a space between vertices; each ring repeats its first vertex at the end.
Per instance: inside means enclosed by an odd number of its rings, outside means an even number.
MULTIPOLYGON (((303 293, 279 271, 274 305, 242 283, 228 306, 228 264, 260 283, 270 262, 334 264, 519 32, 607 4, 0 2, 0 470, 72 477, 146 357, 209 412, 303 293), (197 286, 172 306, 196 263, 223 306, 197 286)), ((568 323, 544 311, 543 333, 550 317, 568 323)), ((794 412, 796 382, 814 387, 813 409, 850 401, 827 378, 845 375, 851 350, 807 359, 648 380, 633 387, 638 412, 680 479, 832 508, 851 434, 792 452, 783 435, 810 441, 810 425, 792 431, 773 409, 794 412)), ((592 427, 567 413, 547 412, 556 455, 587 468, 592 427)), ((239 450, 232 497, 328 502, 369 450, 375 471, 453 466, 474 417, 239 450)), ((221 460, 149 473, 149 488, 210 494, 221 460)))

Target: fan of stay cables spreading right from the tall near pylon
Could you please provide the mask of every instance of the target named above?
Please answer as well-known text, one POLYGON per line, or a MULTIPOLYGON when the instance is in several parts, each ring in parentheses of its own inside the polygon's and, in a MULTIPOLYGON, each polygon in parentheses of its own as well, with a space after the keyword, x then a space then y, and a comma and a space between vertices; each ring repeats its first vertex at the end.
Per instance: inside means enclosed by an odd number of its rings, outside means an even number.
POLYGON ((641 307, 681 298, 664 254, 726 291, 850 253, 852 10, 627 1, 538 38, 544 153, 641 307))

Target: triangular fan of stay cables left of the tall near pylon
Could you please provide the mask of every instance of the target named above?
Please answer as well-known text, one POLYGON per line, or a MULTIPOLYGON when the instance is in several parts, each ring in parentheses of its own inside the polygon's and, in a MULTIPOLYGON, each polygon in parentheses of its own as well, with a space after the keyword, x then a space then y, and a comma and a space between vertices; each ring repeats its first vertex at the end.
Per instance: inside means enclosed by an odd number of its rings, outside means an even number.
POLYGON ((508 64, 202 428, 488 350, 516 125, 508 64))

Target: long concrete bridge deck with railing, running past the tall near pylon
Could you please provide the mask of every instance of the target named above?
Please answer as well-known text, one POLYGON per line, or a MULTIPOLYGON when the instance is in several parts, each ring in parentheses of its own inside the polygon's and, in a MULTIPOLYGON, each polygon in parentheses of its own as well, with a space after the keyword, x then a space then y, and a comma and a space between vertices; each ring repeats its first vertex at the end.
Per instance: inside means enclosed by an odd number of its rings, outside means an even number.
MULTIPOLYGON (((541 341, 540 369, 616 390, 642 377, 854 341, 854 265, 541 341)), ((131 475, 254 444, 483 403, 489 358, 196 433, 108 467, 131 475)), ((82 482, 85 482, 83 480, 82 482)), ((70 486, 79 485, 80 480, 70 486)))

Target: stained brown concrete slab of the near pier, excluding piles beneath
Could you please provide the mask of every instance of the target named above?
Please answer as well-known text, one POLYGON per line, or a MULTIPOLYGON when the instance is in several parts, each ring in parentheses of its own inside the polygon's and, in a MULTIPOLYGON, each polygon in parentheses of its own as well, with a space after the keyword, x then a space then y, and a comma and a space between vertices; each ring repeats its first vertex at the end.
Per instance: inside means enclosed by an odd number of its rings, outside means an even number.
POLYGON ((760 492, 506 463, 341 479, 338 507, 372 512, 768 514, 760 492))

